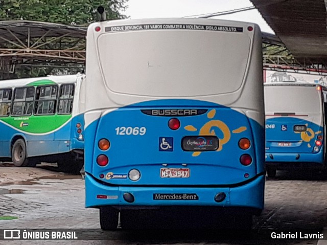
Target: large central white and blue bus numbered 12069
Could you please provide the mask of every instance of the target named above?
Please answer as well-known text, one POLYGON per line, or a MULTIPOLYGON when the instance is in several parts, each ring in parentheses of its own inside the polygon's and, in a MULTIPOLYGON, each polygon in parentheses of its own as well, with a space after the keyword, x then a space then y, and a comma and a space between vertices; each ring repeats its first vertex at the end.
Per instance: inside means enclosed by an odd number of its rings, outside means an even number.
POLYGON ((88 27, 86 207, 103 230, 119 212, 130 228, 144 210, 185 206, 250 227, 264 207, 261 43, 257 25, 227 20, 88 27))

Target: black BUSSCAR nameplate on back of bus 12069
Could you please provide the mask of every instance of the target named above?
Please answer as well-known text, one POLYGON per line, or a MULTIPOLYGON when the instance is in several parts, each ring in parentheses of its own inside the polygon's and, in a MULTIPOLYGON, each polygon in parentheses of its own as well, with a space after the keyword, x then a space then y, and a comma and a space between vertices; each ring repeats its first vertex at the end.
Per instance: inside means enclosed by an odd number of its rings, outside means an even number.
POLYGON ((207 112, 207 109, 152 109, 152 110, 141 110, 142 113, 150 116, 197 116, 207 112))

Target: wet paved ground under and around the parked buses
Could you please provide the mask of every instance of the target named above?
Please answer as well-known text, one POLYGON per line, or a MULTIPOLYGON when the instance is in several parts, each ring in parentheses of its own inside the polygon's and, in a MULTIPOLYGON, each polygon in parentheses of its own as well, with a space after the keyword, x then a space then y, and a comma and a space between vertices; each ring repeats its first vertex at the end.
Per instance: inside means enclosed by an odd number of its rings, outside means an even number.
MULTIPOLYGON (((15 168, 0 164, 0 180, 0 217, 15 218, 0 220, 0 228, 100 228, 98 210, 84 208, 81 175, 54 172, 44 167, 15 168)), ((110 240, 17 240, 10 243, 0 240, 0 244, 317 244, 318 239, 267 241, 262 234, 272 229, 317 229, 321 232, 327 227, 326 173, 278 171, 275 179, 267 179, 265 197, 265 210, 253 218, 254 232, 250 240, 235 235, 222 239, 217 231, 201 229, 98 230, 99 236, 105 234, 110 240)))

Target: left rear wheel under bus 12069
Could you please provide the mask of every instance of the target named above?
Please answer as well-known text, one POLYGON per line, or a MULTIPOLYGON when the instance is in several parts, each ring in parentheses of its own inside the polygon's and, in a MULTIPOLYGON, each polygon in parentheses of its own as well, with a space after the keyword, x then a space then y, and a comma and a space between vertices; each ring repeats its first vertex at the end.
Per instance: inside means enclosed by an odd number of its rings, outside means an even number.
POLYGON ((104 231, 115 230, 118 226, 118 210, 112 207, 100 207, 100 227, 104 231))

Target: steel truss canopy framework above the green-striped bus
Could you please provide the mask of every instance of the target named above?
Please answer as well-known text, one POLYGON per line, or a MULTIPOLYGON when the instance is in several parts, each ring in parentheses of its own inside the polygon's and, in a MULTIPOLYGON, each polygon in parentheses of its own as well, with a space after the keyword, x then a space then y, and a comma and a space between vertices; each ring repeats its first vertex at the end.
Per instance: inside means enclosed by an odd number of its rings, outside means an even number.
MULTIPOLYGON (((18 65, 84 66, 86 28, 38 21, 0 21, 0 76, 18 65)), ((9 75, 8 75, 9 74, 9 75)))

